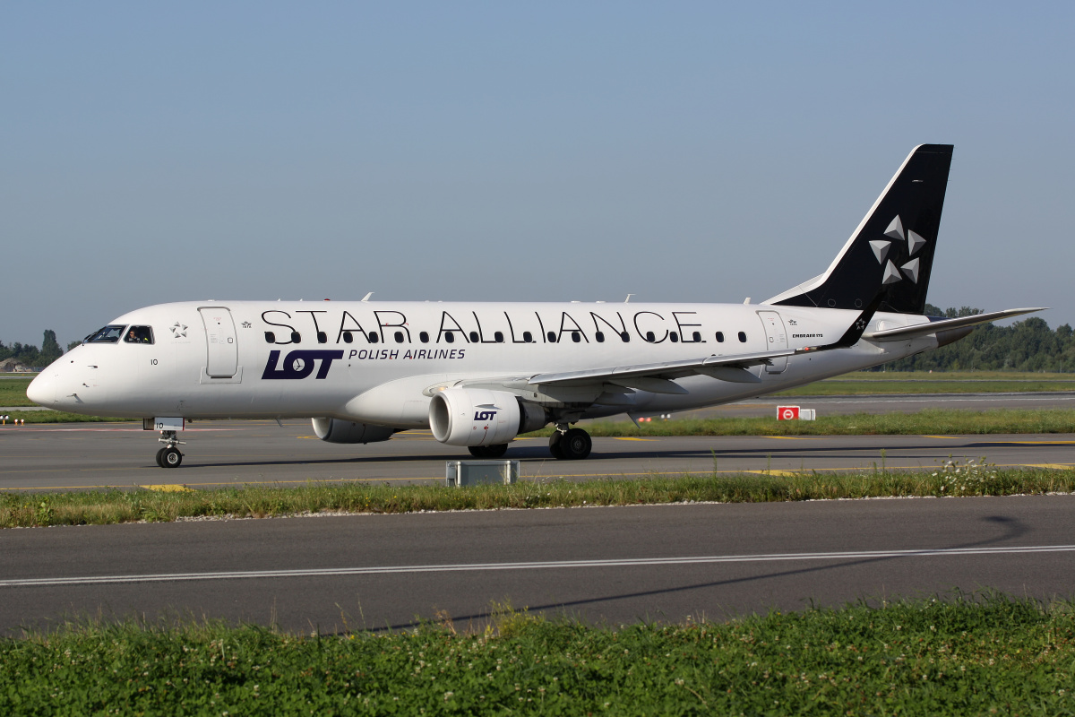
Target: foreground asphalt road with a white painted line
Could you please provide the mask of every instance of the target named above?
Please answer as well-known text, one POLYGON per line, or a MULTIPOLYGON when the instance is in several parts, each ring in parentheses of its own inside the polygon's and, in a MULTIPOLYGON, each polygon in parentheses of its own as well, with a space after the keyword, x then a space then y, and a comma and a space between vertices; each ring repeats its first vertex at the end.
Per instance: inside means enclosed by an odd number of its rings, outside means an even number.
POLYGON ((0 533, 0 632, 215 617, 322 633, 492 602, 597 623, 723 619, 952 588, 1075 585, 1075 497, 691 504, 83 526, 0 533))

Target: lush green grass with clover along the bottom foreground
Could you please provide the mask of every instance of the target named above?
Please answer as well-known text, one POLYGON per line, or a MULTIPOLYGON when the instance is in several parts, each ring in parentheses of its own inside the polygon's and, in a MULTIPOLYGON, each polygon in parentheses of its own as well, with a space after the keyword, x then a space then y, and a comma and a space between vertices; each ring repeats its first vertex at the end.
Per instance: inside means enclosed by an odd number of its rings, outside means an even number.
POLYGON ((84 621, 0 641, 0 712, 1075 713, 1075 605, 947 598, 615 629, 503 608, 488 629, 331 636, 84 621))

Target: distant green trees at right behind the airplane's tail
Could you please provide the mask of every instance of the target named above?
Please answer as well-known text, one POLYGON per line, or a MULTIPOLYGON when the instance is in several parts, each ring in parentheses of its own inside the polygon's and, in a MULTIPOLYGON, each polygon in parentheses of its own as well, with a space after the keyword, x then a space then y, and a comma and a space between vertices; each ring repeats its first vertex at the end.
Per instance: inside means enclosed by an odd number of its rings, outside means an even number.
MULTIPOLYGON (((926 304, 928 316, 957 318, 980 309, 941 310, 926 304)), ((1046 371, 1075 372, 1075 336, 1067 324, 1054 331, 1036 316, 1012 326, 986 324, 954 344, 890 361, 874 371, 1046 371)))

